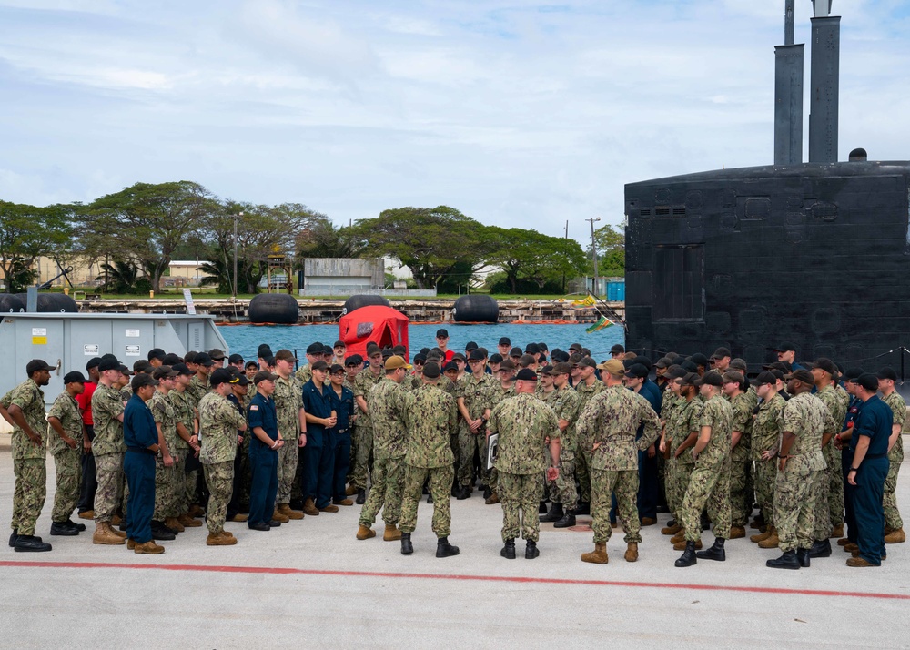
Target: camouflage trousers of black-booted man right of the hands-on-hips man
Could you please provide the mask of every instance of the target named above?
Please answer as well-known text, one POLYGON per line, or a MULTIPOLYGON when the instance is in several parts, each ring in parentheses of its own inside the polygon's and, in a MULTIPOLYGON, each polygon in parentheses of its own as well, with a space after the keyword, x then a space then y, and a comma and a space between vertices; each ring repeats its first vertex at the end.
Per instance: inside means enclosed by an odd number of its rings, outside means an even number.
POLYGON ((713 467, 695 465, 689 477, 685 498, 682 499, 678 520, 685 529, 686 542, 702 539, 702 511, 705 507, 714 524, 714 536, 730 539, 729 463, 713 467))

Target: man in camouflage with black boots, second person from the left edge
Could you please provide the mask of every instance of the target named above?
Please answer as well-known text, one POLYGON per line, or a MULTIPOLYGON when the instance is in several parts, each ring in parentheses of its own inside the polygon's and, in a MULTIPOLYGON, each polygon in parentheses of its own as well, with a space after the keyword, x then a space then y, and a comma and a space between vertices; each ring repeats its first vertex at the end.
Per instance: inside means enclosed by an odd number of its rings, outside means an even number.
POLYGON ((86 530, 83 523, 74 523, 70 515, 79 502, 82 483, 82 441, 85 430, 76 395, 86 390, 86 377, 79 371, 67 372, 63 378, 65 391, 57 395, 47 413, 47 448, 54 456, 56 493, 51 513, 52 535, 76 535, 86 530))

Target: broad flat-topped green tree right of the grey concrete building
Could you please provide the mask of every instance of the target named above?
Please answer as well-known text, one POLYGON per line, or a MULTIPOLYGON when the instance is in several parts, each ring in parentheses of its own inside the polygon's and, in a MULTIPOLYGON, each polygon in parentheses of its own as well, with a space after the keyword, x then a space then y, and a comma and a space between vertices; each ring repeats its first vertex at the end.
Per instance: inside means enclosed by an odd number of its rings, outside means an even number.
POLYGON ((378 218, 359 219, 352 235, 365 252, 408 267, 419 289, 436 287, 459 264, 480 269, 490 250, 484 227, 448 206, 384 210, 378 218))

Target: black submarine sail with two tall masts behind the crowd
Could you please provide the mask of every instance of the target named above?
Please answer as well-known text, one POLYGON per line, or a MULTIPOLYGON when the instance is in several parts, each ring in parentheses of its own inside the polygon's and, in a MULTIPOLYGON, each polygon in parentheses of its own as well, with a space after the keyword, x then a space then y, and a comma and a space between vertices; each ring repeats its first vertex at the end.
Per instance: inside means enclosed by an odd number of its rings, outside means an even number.
MULTIPOLYGON (((625 186, 626 348, 891 366, 910 346, 910 161, 837 161, 840 17, 813 0, 809 161, 794 0, 775 47, 774 164, 625 186)), ((910 370, 910 368, 907 368, 910 370)))

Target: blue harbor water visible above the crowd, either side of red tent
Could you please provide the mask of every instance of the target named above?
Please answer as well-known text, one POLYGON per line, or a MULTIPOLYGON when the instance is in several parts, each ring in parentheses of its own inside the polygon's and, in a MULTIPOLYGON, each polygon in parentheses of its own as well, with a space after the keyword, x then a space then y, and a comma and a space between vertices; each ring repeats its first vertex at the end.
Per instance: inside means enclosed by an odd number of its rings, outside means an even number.
MULTIPOLYGON (((591 356, 597 361, 610 358, 610 348, 616 343, 625 342, 622 327, 612 326, 605 330, 595 331, 591 334, 585 331, 590 325, 459 325, 447 323, 445 325, 416 325, 411 324, 408 329, 410 355, 413 357, 420 348, 436 347, 436 330, 440 327, 449 330, 449 348, 463 352, 464 346, 469 341, 476 342, 481 348, 486 348, 490 354, 496 352, 496 344, 501 337, 511 339, 512 346, 519 346, 522 350, 528 343, 544 342, 553 350, 561 348, 569 350, 572 343, 581 343, 581 346, 591 350, 591 356)), ((287 348, 297 350, 298 359, 305 362, 304 353, 310 343, 319 341, 332 345, 339 338, 338 325, 232 325, 220 327, 218 330, 230 346, 231 353, 243 355, 245 360, 256 359, 256 350, 261 343, 268 343, 272 351, 287 348)))

